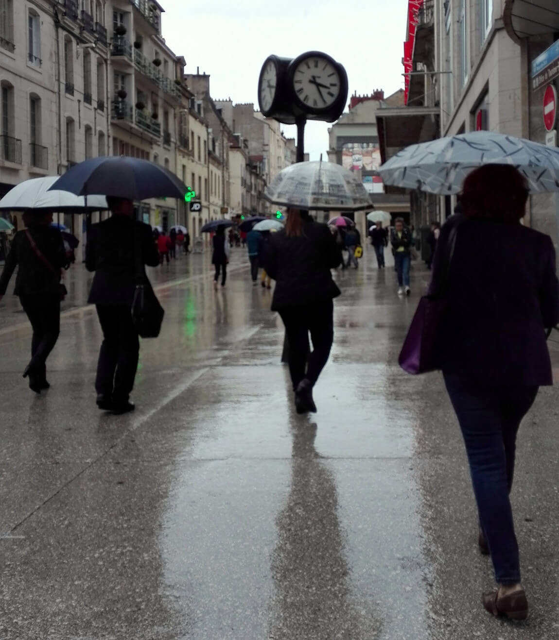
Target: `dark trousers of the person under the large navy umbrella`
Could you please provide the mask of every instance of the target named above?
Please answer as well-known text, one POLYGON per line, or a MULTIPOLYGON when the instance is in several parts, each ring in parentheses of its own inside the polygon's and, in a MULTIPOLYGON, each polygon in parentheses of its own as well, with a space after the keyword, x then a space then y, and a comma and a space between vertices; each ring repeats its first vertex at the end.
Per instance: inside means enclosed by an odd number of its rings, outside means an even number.
POLYGON ((126 402, 134 387, 140 354, 131 310, 124 305, 96 305, 96 308, 104 339, 99 351, 95 390, 116 402, 126 402))

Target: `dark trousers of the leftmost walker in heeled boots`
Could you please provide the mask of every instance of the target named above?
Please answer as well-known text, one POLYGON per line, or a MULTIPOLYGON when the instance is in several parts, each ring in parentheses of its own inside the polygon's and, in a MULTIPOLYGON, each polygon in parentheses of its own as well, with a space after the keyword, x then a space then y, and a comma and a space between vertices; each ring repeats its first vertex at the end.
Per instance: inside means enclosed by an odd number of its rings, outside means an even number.
POLYGON ((60 334, 60 296, 43 293, 19 296, 19 300, 33 328, 30 363, 33 372, 29 375, 45 380, 47 358, 60 334))

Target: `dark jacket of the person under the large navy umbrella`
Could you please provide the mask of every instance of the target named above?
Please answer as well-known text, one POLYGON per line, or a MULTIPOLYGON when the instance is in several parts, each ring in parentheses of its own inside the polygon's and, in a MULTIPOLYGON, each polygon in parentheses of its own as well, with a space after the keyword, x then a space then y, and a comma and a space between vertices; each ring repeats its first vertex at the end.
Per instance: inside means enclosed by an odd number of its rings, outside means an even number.
POLYGON ((92 225, 86 246, 85 266, 95 271, 89 302, 130 306, 136 289, 134 237, 142 246, 142 264, 156 267, 159 254, 152 230, 127 216, 111 216, 92 225))

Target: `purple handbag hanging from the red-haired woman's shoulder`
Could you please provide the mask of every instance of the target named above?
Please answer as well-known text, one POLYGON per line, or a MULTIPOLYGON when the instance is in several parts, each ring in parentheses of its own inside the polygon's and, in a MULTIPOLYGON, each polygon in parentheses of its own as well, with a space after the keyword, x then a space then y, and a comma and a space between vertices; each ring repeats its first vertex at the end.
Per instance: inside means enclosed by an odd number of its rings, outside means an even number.
POLYGON ((438 369, 437 337, 448 301, 446 291, 450 275, 450 263, 456 244, 458 224, 452 228, 448 237, 446 259, 441 265, 441 278, 438 291, 423 296, 417 305, 408 335, 398 357, 400 367, 412 375, 427 373, 438 369))

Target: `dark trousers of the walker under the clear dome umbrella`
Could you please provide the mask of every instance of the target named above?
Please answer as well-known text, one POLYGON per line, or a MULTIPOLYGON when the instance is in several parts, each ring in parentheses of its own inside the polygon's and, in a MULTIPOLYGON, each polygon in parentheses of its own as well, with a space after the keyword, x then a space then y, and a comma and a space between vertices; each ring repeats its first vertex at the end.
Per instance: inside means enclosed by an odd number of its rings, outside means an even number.
POLYGON ((316 384, 328 362, 334 342, 334 303, 332 300, 302 307, 286 307, 279 312, 289 340, 289 373, 293 388, 303 378, 316 384), (309 355, 309 332, 312 353, 309 355))

